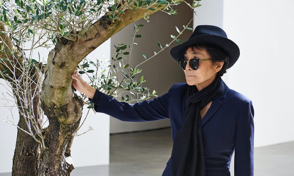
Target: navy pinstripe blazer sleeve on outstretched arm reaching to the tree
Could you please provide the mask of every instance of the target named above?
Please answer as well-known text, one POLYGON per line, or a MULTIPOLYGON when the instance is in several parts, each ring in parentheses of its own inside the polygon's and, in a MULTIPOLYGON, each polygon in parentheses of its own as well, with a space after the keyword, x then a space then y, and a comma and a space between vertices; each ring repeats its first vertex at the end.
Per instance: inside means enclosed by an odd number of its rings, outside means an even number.
POLYGON ((96 89, 93 99, 88 98, 94 104, 94 110, 108 114, 121 121, 143 122, 167 119, 168 101, 173 86, 160 97, 130 104, 117 101, 113 97, 96 89))

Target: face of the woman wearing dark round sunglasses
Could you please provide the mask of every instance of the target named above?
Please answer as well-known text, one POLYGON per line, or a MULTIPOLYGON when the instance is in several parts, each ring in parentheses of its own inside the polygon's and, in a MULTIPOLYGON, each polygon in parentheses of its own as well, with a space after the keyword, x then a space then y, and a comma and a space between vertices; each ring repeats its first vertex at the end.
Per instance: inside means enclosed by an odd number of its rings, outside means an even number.
POLYGON ((194 56, 198 57, 199 59, 211 58, 205 50, 198 50, 194 48, 194 51, 195 53, 191 48, 188 48, 188 50, 186 51, 184 56, 187 60, 187 65, 186 70, 183 71, 186 75, 187 84, 190 86, 196 85, 197 89, 200 91, 213 82, 217 75, 217 72, 222 68, 223 62, 220 62, 221 65, 215 66, 212 64, 211 60, 199 60, 198 69, 193 70, 188 62, 193 59, 194 56))

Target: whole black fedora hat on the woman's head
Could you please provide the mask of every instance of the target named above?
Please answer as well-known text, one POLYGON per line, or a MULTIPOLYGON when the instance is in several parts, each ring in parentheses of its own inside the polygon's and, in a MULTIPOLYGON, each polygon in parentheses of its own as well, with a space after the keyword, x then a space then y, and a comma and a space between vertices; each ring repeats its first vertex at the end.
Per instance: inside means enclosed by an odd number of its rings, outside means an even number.
POLYGON ((228 39, 223 29, 212 25, 197 26, 186 42, 171 48, 171 56, 178 62, 178 58, 183 58, 183 52, 188 46, 201 43, 216 45, 223 49, 229 57, 227 69, 232 67, 240 56, 238 45, 228 39))

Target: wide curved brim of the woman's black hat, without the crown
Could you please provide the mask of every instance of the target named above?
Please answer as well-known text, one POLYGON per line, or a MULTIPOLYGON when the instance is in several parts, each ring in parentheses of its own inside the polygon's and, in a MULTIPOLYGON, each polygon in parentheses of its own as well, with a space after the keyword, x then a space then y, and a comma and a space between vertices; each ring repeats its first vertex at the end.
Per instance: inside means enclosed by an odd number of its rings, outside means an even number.
POLYGON ((178 62, 178 58, 183 58, 183 52, 188 46, 200 43, 213 44, 223 49, 229 57, 229 65, 227 69, 232 67, 240 56, 240 49, 232 40, 222 36, 210 34, 192 37, 186 42, 171 48, 170 54, 178 62))

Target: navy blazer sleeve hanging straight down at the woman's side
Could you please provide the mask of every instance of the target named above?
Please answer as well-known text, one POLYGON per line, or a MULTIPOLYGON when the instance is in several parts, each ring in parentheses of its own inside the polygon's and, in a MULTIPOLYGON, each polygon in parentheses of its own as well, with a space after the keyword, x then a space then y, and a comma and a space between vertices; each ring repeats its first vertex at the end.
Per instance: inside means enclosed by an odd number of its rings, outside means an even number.
POLYGON ((234 174, 253 176, 254 109, 250 99, 243 104, 235 130, 234 174))

